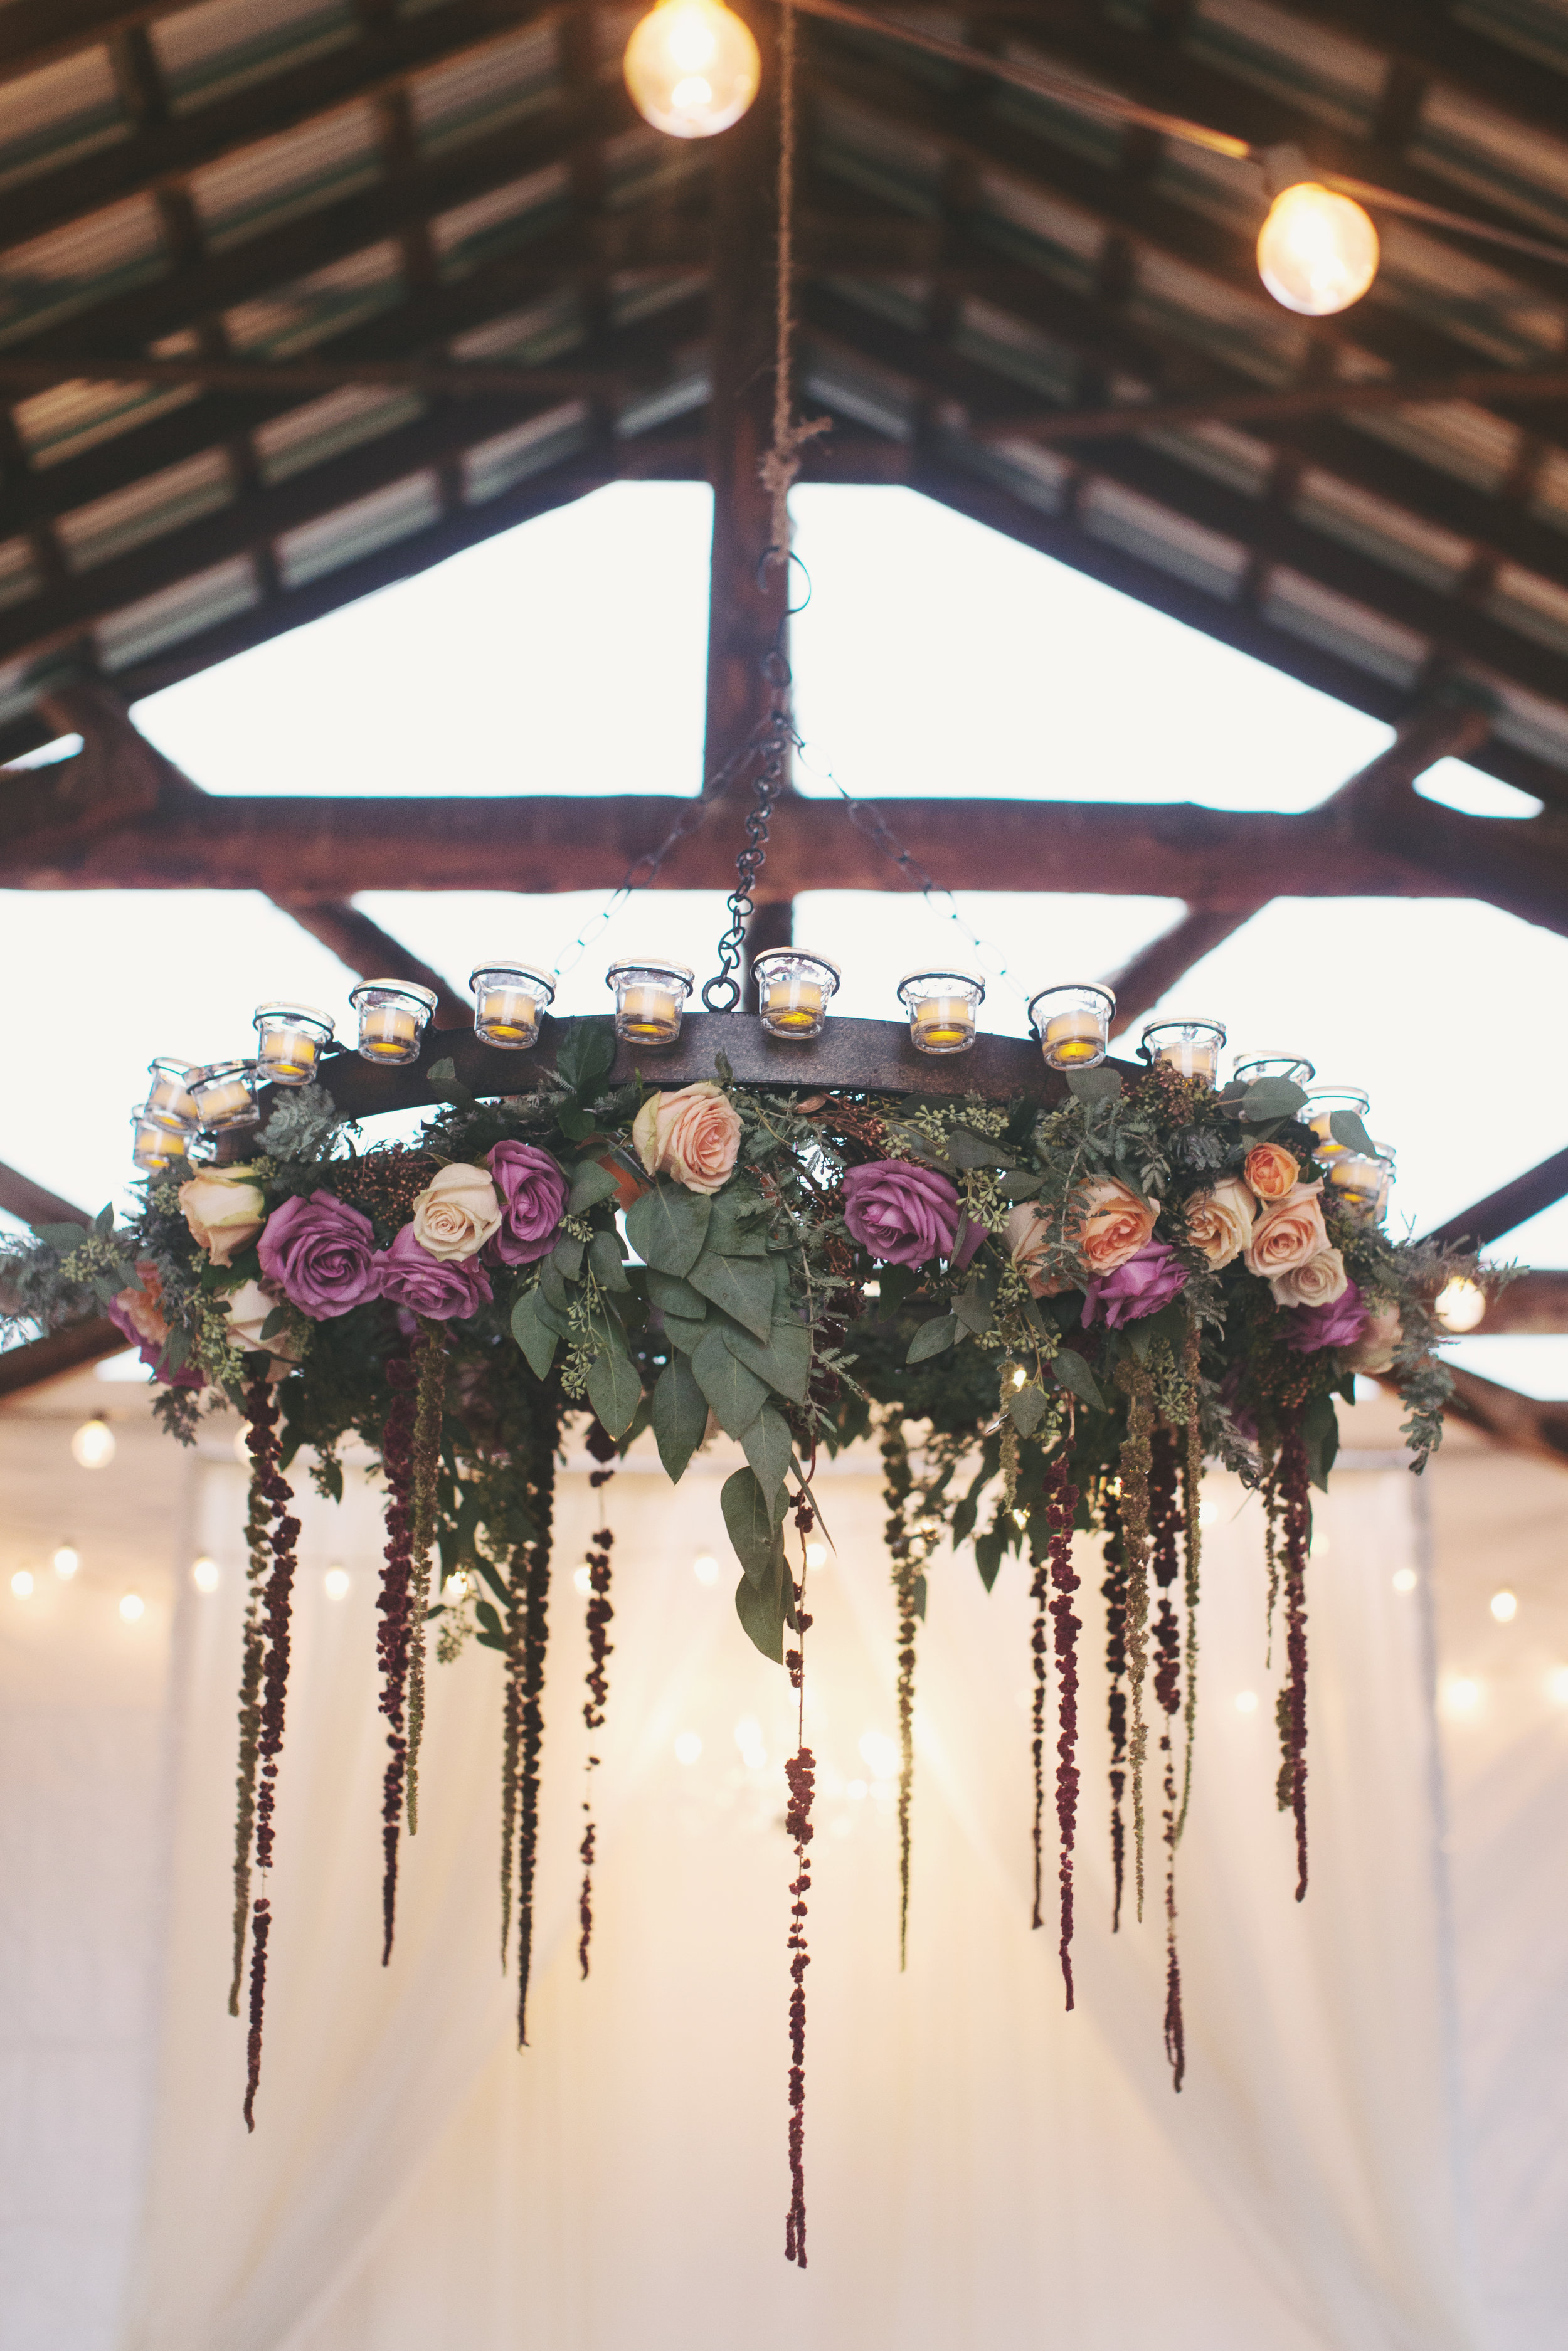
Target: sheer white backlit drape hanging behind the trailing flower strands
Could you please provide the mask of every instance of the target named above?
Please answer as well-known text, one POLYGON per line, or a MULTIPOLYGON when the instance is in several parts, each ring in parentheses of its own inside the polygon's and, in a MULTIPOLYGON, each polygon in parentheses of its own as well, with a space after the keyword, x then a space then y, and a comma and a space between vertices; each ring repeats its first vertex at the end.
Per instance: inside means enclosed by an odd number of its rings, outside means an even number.
MULTIPOLYGON (((1199 1775, 1180 1855, 1187 2088, 1161 2055, 1161 1848, 1145 1925, 1107 1933, 1103 1603, 1084 1592, 1079 2005, 1032 1935, 1027 1594, 933 1573, 919 1662, 910 1968, 891 1733, 893 1613, 875 1462, 823 1479, 806 2184, 783 2262, 788 1688, 736 1627, 726 1460, 679 1491, 623 1472, 595 1775, 592 1975, 576 1970, 583 1601, 599 1500, 562 1481, 545 1693, 531 2048, 496 1930, 498 1660, 433 1667, 421 1834, 378 1961, 378 1498, 306 1502, 259 2128, 223 2008, 237 1573, 190 1608, 158 2135, 127 2351, 1467 2351, 1439 1822, 1408 1479, 1349 1474, 1312 1566, 1312 1893, 1274 1810, 1258 1507, 1213 1479, 1199 1775), (717 1589, 693 1552, 724 1561, 717 1589), (331 1603, 322 1568, 350 1568, 331 1603), (1239 1690, 1258 1693, 1241 1714, 1239 1690), (766 1770, 733 1723, 755 1716, 766 1770), (679 1730, 703 1737, 675 1761, 679 1730)), ((202 1472, 237 1568, 242 1474, 202 1472)), ((1279 1641, 1274 1667, 1279 1669, 1279 1641)), ((1157 1822, 1157 1796, 1152 1817, 1157 1822)), ((1053 1831, 1053 1808, 1048 1808, 1053 1831)), ((1053 1836, 1051 1848, 1053 1853, 1053 1836)), ((1131 1902, 1128 1902, 1131 1911, 1131 1902)))

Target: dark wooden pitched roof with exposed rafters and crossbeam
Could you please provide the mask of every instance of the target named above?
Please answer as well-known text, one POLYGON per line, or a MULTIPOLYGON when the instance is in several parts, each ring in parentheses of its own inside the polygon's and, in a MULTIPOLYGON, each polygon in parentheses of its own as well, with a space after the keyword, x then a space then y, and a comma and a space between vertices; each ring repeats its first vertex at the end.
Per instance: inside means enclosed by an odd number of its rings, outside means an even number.
MULTIPOLYGON (((778 12, 741 12, 757 106, 672 141, 621 80, 637 7, 0 5, 0 762, 85 743, 0 766, 0 889, 256 889, 456 1020, 355 891, 611 889, 668 835, 689 804, 661 795, 216 799, 129 705, 607 482, 708 480, 708 773, 731 757, 783 609, 778 12)), ((1568 242, 1568 0, 903 14, 1568 242)), ((954 889, 1185 900, 1114 976, 1121 1025, 1269 896, 1568 933, 1568 268, 1382 216, 1373 292, 1300 320, 1258 282, 1255 165, 893 28, 799 42, 795 390, 832 421, 802 480, 907 484, 1396 729, 1300 816, 877 802, 898 842, 954 889), (1540 813, 1425 799, 1446 755, 1540 813)), ((663 886, 729 886, 724 806, 663 886)), ((785 797, 755 936, 823 886, 907 870, 785 797)))

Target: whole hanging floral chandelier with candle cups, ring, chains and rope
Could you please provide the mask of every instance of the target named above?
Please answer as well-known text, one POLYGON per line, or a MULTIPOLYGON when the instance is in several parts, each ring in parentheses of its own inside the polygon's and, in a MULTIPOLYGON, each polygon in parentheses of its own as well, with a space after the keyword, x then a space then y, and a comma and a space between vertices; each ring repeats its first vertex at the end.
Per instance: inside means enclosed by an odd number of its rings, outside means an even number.
MULTIPOLYGON (((656 16, 686 0, 665 0, 656 16)), ((733 21, 733 19, 731 19, 733 21)), ((750 35, 748 35, 750 38, 750 35)), ((785 45, 785 66, 792 47, 785 45)), ((628 68, 630 71, 630 68, 628 68)), ((790 82, 780 153, 788 287, 790 82)), ((778 407, 764 482, 788 550, 799 442, 778 308, 778 407)), ((931 964, 898 983, 898 1023, 832 1011, 820 955, 743 950, 769 816, 799 750, 783 644, 771 710, 682 813, 602 922, 649 884, 719 795, 750 776, 717 973, 663 957, 607 971, 614 1011, 557 1020, 562 971, 491 957, 470 973, 473 1030, 433 1030, 437 999, 395 978, 329 1013, 256 1006, 256 1044, 195 1067, 150 1063, 134 1112, 136 1208, 89 1232, 38 1227, 0 1248, 14 1319, 108 1312, 160 1382, 181 1441, 205 1413, 244 1418, 249 1599, 240 1660, 230 2012, 247 2008, 254 2128, 270 1869, 287 1728, 299 1521, 296 1467, 343 1493, 343 1446, 386 1486, 376 1655, 388 1761, 381 1961, 393 1963, 402 1838, 418 1829, 425 1669, 468 1643, 501 1657, 501 1954, 527 2043, 538 1782, 550 1646, 552 1509, 564 1439, 583 1434, 595 1491, 651 1432, 679 1481, 719 1434, 743 1460, 722 1512, 736 1615, 797 1693, 785 1766, 790 2203, 785 2252, 806 2264, 804 2057, 816 1759, 804 1742, 809 1538, 816 1465, 875 1439, 889 1507, 900 1723, 900 1965, 912 1895, 912 1709, 938 1552, 969 1547, 990 1589, 1030 1578, 1034 1907, 1056 1916, 1074 2005, 1079 1634, 1086 1547, 1100 1549, 1105 1827, 1112 1928, 1145 1918, 1164 1878, 1164 2041, 1185 2074, 1175 1864, 1194 1801, 1206 1465, 1262 1498, 1269 1632, 1284 1622, 1279 1808, 1295 1897, 1307 1893, 1307 1552, 1312 1486, 1338 1446, 1335 1399, 1392 1380, 1410 1467, 1441 1439, 1450 1378, 1436 1302, 1474 1293, 1472 1258, 1385 1230, 1394 1154, 1368 1098, 1319 1086, 1309 1060, 1253 1056, 1220 1081, 1215 1020, 1157 1020, 1138 1063, 1110 1060, 1114 997, 1091 983, 1027 997, 1030 1039, 980 1030, 985 983, 931 964), (414 1143, 360 1147, 360 1121, 425 1110, 414 1143), (1077 1545, 1074 1545, 1077 1538, 1077 1545), (1056 1681, 1051 1681, 1056 1667, 1056 1681), (1046 1747, 1056 1728, 1048 1789, 1046 1747), (1046 1799, 1058 1820, 1046 1900, 1046 1799)), ((849 795, 844 795, 849 799, 849 795)), ((931 900, 936 884, 858 802, 931 900)), ((952 907, 957 917, 957 907, 952 907)), ((576 950, 585 950, 585 938, 576 950)), ((973 943, 980 950, 980 943, 973 943)), ((1490 1279, 1490 1277, 1488 1277, 1490 1279)), ((588 1552, 583 1723, 609 1704, 614 1528, 588 1552)), ((952 1573, 943 1568, 940 1573, 952 1573)), ((1023 1768, 1023 1756, 1020 1756, 1023 1768)), ((590 1965, 595 1817, 578 1848, 581 1968, 590 1965)), ((284 1928, 280 1928, 284 1933, 284 1928)))

